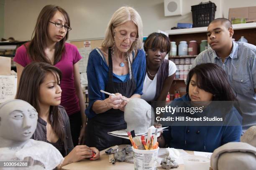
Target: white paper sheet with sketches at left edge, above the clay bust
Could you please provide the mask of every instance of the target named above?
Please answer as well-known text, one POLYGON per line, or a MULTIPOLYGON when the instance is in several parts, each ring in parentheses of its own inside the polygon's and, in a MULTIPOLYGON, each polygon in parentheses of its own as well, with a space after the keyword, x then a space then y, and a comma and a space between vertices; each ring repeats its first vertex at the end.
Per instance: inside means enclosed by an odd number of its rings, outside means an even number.
POLYGON ((0 75, 0 103, 15 98, 17 79, 13 75, 0 75))

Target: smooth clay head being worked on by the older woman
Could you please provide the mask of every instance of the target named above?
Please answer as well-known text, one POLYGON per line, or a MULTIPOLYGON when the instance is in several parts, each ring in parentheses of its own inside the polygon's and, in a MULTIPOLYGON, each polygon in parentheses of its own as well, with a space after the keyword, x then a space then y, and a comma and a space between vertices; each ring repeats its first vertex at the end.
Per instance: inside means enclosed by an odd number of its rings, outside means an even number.
POLYGON ((127 123, 127 131, 134 130, 136 134, 147 133, 148 128, 153 125, 154 111, 145 100, 132 98, 125 106, 124 120, 127 123))

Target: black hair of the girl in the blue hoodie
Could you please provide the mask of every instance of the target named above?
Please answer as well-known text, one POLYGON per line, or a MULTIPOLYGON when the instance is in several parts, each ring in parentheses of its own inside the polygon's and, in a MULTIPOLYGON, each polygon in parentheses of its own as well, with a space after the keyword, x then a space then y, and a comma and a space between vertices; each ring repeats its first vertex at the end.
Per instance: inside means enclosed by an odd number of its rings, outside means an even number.
POLYGON ((196 75, 197 87, 213 94, 214 101, 235 101, 236 96, 232 91, 224 70, 216 64, 205 63, 192 68, 187 75, 187 94, 189 82, 196 75))

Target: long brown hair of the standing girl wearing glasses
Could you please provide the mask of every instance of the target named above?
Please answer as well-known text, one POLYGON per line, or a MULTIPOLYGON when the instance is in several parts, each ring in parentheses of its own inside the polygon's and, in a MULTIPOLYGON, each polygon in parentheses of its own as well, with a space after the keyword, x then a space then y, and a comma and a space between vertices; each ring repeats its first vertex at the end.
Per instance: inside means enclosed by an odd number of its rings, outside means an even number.
MULTIPOLYGON (((67 25, 70 27, 69 15, 64 9, 56 5, 46 5, 38 15, 36 27, 33 31, 33 33, 35 33, 34 37, 29 44, 25 45, 27 48, 28 56, 31 58, 31 60, 52 64, 49 58, 45 55, 44 49, 46 48, 46 40, 49 35, 47 31, 48 24, 51 24, 49 21, 51 18, 53 18, 57 11, 64 15, 64 18, 67 21, 67 25)), ((68 37, 69 31, 67 31, 66 36, 60 42, 56 43, 54 52, 54 65, 59 62, 59 60, 61 60, 61 55, 65 51, 65 42, 68 37)))

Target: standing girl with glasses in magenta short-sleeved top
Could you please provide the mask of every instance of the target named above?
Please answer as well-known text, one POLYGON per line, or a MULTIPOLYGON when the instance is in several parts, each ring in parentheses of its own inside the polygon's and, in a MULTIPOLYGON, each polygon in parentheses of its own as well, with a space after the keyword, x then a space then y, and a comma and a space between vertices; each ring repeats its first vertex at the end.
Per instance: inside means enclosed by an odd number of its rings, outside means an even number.
POLYGON ((18 83, 23 68, 32 61, 47 62, 61 70, 61 105, 69 115, 72 140, 76 146, 83 143, 86 116, 78 65, 82 57, 77 47, 66 43, 70 30, 67 12, 61 7, 46 5, 38 16, 34 37, 17 49, 14 61, 18 83))

